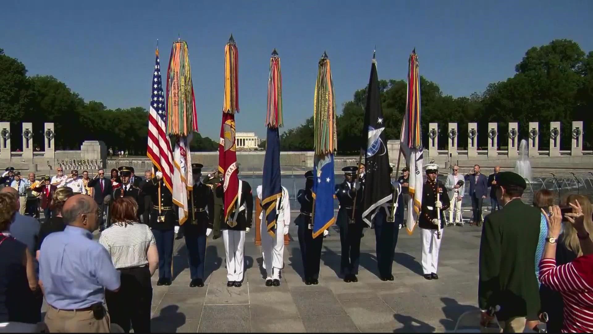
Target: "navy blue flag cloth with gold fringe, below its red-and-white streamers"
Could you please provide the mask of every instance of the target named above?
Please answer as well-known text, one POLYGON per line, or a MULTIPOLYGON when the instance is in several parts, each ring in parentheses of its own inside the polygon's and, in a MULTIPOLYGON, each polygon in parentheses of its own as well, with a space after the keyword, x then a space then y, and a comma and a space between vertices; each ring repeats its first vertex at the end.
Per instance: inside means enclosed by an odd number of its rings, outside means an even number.
POLYGON ((278 128, 267 128, 266 157, 263 163, 262 210, 267 223, 267 232, 276 233, 276 202, 282 195, 280 182, 280 135, 278 128))

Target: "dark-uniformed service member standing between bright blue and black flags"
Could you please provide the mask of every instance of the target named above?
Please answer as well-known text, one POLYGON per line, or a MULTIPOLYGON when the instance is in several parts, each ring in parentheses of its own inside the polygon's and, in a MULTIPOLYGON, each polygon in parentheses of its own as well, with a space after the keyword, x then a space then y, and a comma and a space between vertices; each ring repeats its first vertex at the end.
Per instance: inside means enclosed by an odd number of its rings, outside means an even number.
POLYGON ((337 226, 340 228, 340 244, 342 245, 342 261, 340 273, 344 282, 358 282, 358 264, 361 255, 362 228, 366 225, 362 221, 362 196, 364 190, 356 181, 356 166, 342 168, 345 179, 336 185, 336 197, 340 202, 337 212, 337 226), (356 206, 354 205, 356 198, 356 206), (352 211, 354 210, 354 219, 352 211))

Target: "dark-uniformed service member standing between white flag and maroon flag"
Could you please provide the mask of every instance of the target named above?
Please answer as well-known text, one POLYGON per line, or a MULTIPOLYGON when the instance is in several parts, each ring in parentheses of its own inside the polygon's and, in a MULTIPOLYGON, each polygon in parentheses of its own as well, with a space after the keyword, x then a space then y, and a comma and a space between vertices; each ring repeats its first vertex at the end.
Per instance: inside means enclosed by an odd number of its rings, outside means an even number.
POLYGON ((201 163, 192 163, 193 190, 189 192, 189 219, 183 223, 187 247, 187 260, 192 282, 189 286, 204 286, 204 261, 206 259, 206 237, 212 233, 212 212, 214 198, 212 189, 200 181, 201 163))

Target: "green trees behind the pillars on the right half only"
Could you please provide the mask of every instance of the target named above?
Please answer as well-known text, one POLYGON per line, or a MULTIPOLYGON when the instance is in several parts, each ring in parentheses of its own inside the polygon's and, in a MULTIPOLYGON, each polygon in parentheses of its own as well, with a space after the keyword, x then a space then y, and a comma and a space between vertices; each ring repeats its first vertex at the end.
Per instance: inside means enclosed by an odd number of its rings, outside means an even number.
MULTIPOLYGON (((448 123, 458 124, 458 147, 467 147, 468 122, 477 122, 478 146, 485 149, 488 122, 498 122, 498 143, 506 147, 508 122, 519 122, 517 138, 528 138, 528 123, 539 122, 540 147, 546 149, 550 122, 559 121, 561 149, 569 149, 572 121, 583 121, 584 147, 593 146, 593 52, 585 54, 572 40, 553 40, 530 48, 515 66, 515 75, 489 84, 484 92, 453 97, 441 92, 438 84, 420 77, 422 142, 428 147, 428 125, 439 124, 439 149, 448 141, 448 123)), ((422 73, 422 67, 420 67, 422 73)), ((460 78, 460 80, 463 78, 460 78)), ((380 80, 381 104, 388 139, 400 137, 406 109, 406 80, 380 80)), ((358 155, 366 105, 366 88, 357 90, 344 103, 337 117, 338 152, 358 155)), ((282 150, 313 150, 313 116, 304 124, 282 133, 282 150)))

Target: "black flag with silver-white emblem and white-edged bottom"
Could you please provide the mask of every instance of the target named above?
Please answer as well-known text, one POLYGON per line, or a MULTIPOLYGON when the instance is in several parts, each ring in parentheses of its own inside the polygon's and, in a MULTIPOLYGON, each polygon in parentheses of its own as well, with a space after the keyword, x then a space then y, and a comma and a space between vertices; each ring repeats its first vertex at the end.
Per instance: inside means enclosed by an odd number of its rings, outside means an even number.
POLYGON ((365 155, 365 188, 362 219, 371 226, 371 220, 381 204, 391 200, 389 153, 385 140, 385 120, 379 96, 379 80, 375 59, 371 65, 366 92, 365 123, 362 128, 361 152, 365 155))

